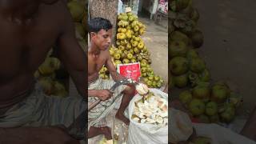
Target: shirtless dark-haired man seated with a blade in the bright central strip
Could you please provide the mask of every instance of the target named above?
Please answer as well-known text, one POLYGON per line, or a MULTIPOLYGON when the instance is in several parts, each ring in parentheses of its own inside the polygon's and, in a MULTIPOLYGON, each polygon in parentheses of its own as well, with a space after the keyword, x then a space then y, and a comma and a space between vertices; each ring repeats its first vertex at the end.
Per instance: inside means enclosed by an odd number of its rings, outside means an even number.
MULTIPOLYGON (((90 47, 88 51, 88 83, 93 85, 98 78, 98 72, 101 70, 102 66, 105 65, 106 68, 110 71, 111 77, 114 81, 122 80, 124 77, 117 73, 117 70, 114 64, 111 61, 109 47, 111 44, 112 38, 112 25, 109 20, 104 18, 94 18, 89 22, 89 32, 90 32, 90 47)), ((102 87, 91 88, 88 91, 89 98, 97 97, 104 102, 112 101, 117 93, 111 94, 110 87, 114 85, 114 81, 103 81, 98 82, 98 85, 102 85, 102 87), (108 83, 109 82, 109 83, 108 83), (106 83, 106 86, 104 84, 106 83)), ((118 88, 117 88, 118 89, 118 88)), ((119 90, 120 93, 123 93, 121 106, 116 114, 116 118, 125 122, 126 125, 129 125, 129 119, 124 116, 124 110, 129 105, 130 99, 134 96, 134 86, 126 86, 122 90, 119 90)), ((90 100, 89 100, 90 102, 90 100)), ((102 104, 104 105, 104 104, 102 104)), ((97 109, 97 106, 94 108, 97 109)), ((90 110, 88 119, 90 119, 90 110)), ((100 108, 98 108, 100 109, 100 108)), ((99 112, 102 113, 102 112, 99 112)), ((98 117, 98 115, 97 115, 98 117)), ((96 127, 89 126, 89 135, 88 138, 92 138, 98 134, 105 134, 106 138, 111 138, 110 128, 106 126, 96 127)))

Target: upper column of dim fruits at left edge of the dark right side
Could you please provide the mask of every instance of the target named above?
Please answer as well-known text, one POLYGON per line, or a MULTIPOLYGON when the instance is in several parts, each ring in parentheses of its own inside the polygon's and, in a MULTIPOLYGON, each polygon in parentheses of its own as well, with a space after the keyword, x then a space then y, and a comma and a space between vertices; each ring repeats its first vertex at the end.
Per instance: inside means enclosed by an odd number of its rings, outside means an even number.
POLYGON ((174 0, 169 6, 170 86, 183 88, 210 82, 206 62, 195 50, 203 43, 202 32, 197 28, 198 10, 193 8, 192 0, 174 0))

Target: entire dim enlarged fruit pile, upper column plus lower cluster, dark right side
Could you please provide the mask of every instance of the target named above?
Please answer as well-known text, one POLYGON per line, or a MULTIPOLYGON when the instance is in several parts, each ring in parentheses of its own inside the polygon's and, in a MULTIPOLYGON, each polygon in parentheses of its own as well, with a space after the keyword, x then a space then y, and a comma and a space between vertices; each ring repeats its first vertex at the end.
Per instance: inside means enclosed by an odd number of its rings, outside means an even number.
POLYGON ((203 44, 198 10, 192 0, 175 0, 169 16, 170 90, 190 86, 179 99, 199 122, 231 122, 241 98, 226 82, 210 84, 210 71, 196 50, 203 44))

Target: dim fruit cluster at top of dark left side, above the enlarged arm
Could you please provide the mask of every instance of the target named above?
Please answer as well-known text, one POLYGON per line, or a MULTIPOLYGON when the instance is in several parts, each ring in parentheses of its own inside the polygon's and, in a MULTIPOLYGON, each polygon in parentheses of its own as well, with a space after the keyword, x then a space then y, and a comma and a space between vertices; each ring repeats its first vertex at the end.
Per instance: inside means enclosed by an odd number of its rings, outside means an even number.
POLYGON ((76 38, 82 50, 86 50, 87 47, 87 0, 71 0, 67 3, 67 7, 70 10, 70 14, 73 18, 76 38))

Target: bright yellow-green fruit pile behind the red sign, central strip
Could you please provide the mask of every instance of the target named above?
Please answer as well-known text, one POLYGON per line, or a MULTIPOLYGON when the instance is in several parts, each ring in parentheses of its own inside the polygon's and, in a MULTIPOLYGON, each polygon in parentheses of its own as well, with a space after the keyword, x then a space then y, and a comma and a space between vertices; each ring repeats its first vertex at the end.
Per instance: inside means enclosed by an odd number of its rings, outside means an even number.
MULTIPOLYGON (((131 12, 118 14, 117 47, 110 47, 110 55, 115 66, 122 63, 140 62, 141 74, 146 85, 160 88, 163 80, 160 76, 154 74, 150 67, 150 51, 141 38, 145 30, 146 26, 138 21, 137 15, 131 12)), ((102 74, 102 78, 109 78, 105 76, 106 74, 108 73, 102 74)))

